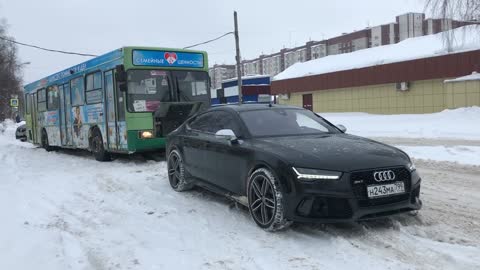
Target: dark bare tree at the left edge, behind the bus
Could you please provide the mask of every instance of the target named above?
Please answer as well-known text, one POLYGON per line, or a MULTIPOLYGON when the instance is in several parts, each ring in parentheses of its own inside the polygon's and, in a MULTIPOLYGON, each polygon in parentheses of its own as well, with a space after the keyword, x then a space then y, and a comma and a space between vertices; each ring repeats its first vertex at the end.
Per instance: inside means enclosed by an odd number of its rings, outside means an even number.
MULTIPOLYGON (((12 39, 7 35, 7 23, 0 21, 0 37, 12 39)), ((12 42, 0 39, 0 121, 13 117, 10 98, 21 97, 21 65, 18 63, 17 47, 12 42)))

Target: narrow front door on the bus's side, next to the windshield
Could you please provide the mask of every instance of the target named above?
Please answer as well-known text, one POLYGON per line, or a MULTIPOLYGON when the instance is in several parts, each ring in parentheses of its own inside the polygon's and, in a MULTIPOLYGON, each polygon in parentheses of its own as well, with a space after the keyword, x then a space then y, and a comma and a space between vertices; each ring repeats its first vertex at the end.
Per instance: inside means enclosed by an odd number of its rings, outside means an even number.
POLYGON ((118 136, 118 119, 116 110, 116 93, 113 86, 113 70, 106 71, 104 73, 105 78, 105 111, 106 111, 106 130, 107 130, 107 144, 108 149, 119 149, 119 136, 118 136))

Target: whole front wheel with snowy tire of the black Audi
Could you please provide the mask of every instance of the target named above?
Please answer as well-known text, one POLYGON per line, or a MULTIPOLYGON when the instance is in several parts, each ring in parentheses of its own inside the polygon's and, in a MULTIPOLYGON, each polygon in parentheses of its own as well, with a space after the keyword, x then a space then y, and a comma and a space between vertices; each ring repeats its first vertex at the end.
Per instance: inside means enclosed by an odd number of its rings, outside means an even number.
POLYGON ((288 228, 283 195, 275 175, 266 168, 255 170, 248 178, 248 209, 255 223, 266 231, 288 228))

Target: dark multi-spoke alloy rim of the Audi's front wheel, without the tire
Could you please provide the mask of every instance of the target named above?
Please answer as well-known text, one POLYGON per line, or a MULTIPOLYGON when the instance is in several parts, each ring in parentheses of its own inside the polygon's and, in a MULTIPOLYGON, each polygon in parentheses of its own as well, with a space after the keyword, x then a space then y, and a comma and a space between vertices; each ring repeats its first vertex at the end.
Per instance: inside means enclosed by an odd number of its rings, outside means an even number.
POLYGON ((276 196, 272 183, 263 175, 257 175, 250 184, 250 209, 253 218, 262 225, 268 225, 275 217, 276 196))

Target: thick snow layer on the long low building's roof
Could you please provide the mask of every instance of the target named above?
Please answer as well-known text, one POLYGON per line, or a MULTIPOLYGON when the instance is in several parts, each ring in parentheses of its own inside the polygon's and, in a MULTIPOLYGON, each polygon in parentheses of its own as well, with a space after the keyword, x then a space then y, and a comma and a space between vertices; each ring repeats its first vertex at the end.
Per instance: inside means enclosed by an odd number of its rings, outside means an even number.
POLYGON ((477 26, 464 26, 450 31, 453 31, 450 52, 444 46, 444 34, 438 33, 409 38, 397 44, 346 54, 329 55, 303 63, 296 63, 276 75, 273 80, 312 76, 480 49, 480 35, 478 35, 477 26))

